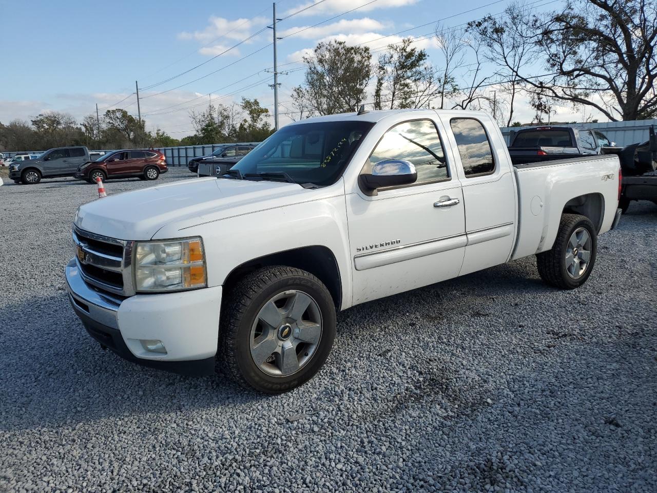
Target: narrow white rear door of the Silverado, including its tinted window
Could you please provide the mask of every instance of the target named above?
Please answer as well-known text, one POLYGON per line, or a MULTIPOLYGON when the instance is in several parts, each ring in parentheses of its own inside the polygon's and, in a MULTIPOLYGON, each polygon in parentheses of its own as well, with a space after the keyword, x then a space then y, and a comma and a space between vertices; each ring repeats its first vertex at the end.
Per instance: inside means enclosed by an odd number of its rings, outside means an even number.
POLYGON ((491 118, 451 118, 449 134, 461 161, 467 245, 461 274, 507 262, 516 223, 516 185, 505 143, 491 118))

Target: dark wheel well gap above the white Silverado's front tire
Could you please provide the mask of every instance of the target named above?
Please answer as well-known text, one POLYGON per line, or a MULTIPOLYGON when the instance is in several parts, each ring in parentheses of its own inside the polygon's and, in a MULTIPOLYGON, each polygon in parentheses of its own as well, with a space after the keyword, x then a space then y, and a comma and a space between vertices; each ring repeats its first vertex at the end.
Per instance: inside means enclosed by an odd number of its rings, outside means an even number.
POLYGON ((340 310, 342 285, 340 284, 338 262, 335 260, 333 252, 327 247, 319 245, 285 250, 244 262, 229 273, 223 283, 223 289, 225 291, 231 289, 244 275, 267 266, 296 267, 315 275, 327 287, 336 310, 340 310))

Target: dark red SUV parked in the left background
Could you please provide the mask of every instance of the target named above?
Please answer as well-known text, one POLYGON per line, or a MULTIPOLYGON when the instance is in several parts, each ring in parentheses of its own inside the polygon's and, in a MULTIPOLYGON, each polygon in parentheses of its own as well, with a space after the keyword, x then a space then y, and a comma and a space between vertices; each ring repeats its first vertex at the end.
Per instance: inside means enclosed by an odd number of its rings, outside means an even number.
POLYGON ((152 149, 129 149, 112 151, 95 161, 87 161, 78 168, 74 175, 89 183, 96 183, 97 177, 106 179, 139 177, 140 179, 158 179, 160 173, 166 173, 164 154, 152 149))

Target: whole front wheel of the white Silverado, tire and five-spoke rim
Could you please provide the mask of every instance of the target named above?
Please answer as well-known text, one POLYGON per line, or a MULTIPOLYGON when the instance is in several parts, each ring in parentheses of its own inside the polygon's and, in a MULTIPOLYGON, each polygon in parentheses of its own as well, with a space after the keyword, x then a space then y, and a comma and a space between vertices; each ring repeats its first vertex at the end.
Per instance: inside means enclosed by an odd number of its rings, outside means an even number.
POLYGON ((217 354, 225 373, 269 394, 311 379, 335 337, 335 306, 325 285, 306 271, 273 266, 246 275, 231 291, 217 354))

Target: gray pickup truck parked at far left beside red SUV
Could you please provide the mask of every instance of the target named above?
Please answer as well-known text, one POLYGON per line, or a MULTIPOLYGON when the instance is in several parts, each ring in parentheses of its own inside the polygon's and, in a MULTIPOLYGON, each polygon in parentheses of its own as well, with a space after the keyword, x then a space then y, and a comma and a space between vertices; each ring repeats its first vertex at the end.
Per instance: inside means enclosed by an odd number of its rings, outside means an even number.
POLYGON ((74 176, 78 166, 89 161, 89 149, 82 145, 72 147, 55 147, 35 159, 12 164, 9 167, 9 178, 14 183, 35 185, 41 178, 58 178, 74 176))

